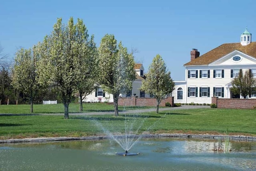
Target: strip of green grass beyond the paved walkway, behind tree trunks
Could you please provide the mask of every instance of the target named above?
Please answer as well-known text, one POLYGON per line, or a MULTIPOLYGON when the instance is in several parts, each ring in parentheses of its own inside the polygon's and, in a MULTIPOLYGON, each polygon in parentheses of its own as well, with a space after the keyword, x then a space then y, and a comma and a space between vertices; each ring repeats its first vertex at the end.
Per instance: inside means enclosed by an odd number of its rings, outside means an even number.
MULTIPOLYGON (((140 107, 140 106, 118 106, 118 110, 135 110, 135 109, 143 109, 143 108, 152 108, 152 107, 140 107)), ((113 104, 107 103, 84 103, 83 104, 83 112, 114 112, 113 104)), ((34 114, 40 113, 64 113, 64 105, 63 104, 34 104, 33 105, 34 114)), ((69 105, 70 113, 79 113, 79 104, 78 103, 70 103, 69 105)), ((0 113, 6 114, 30 114, 30 105, 27 104, 19 104, 19 105, 0 105, 0 113)))

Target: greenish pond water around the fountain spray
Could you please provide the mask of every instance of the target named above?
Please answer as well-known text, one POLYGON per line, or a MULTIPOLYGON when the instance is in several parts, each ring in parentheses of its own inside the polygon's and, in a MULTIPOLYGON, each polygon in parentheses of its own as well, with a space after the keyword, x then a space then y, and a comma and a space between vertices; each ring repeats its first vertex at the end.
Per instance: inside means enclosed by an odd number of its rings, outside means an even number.
POLYGON ((112 140, 0 144, 1 171, 252 171, 256 142, 231 141, 233 151, 213 151, 218 140, 142 138, 129 152, 112 140))

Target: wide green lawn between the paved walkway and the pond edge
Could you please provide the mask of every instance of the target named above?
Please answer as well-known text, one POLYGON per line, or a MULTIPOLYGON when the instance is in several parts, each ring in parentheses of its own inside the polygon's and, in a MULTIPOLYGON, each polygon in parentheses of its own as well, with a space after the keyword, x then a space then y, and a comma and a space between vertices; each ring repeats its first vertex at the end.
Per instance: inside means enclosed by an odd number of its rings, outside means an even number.
POLYGON ((104 135, 96 123, 112 132, 124 133, 125 121, 136 121, 135 126, 143 123, 139 134, 224 134, 228 130, 229 135, 256 136, 256 110, 201 108, 169 110, 159 114, 146 112, 127 118, 124 115, 114 117, 108 114, 70 115, 68 120, 64 116, 54 115, 0 115, 0 139, 104 135))

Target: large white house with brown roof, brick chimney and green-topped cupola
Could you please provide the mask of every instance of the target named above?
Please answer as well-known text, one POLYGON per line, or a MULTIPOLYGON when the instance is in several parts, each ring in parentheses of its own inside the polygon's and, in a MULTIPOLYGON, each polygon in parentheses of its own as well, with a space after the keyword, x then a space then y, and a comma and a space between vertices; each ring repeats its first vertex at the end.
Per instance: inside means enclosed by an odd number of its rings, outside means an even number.
POLYGON ((256 42, 247 28, 240 43, 225 43, 201 56, 192 49, 190 55, 190 62, 184 64, 186 80, 175 82, 174 103, 211 103, 212 96, 242 98, 230 90, 232 79, 246 70, 256 77, 256 42))

